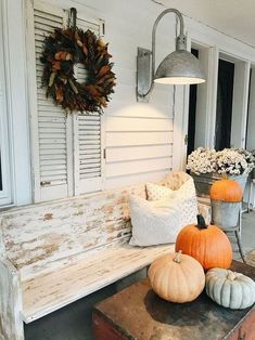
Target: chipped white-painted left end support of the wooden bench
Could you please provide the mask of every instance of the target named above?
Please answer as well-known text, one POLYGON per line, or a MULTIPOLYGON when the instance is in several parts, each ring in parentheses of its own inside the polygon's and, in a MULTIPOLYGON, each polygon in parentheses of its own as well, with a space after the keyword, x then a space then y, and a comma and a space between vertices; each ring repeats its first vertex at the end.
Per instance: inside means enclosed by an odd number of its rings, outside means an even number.
POLYGON ((0 340, 24 340, 20 277, 8 260, 0 260, 0 340))

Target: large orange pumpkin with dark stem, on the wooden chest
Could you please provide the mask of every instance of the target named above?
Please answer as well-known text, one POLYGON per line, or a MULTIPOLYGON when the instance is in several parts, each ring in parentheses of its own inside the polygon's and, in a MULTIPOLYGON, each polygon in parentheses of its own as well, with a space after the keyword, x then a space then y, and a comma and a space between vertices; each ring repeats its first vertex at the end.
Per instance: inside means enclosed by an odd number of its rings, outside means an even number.
POLYGON ((197 260, 204 270, 228 269, 232 262, 232 247, 226 234, 216 225, 206 225, 197 215, 197 224, 184 226, 178 234, 176 251, 197 260))

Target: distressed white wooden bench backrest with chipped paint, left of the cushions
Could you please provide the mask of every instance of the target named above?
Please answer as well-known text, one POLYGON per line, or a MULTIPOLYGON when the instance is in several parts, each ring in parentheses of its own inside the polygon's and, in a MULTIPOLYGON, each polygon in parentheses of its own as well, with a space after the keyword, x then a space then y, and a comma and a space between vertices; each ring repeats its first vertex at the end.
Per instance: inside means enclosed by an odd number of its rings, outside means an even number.
POLYGON ((129 194, 144 184, 30 205, 1 214, 0 256, 31 277, 130 238, 129 194))

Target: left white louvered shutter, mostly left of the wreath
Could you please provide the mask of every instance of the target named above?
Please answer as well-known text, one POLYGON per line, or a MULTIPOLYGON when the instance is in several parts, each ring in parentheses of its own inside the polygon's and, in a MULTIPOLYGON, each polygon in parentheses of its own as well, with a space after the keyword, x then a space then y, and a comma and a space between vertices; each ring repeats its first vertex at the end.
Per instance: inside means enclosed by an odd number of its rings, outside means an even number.
POLYGON ((64 26, 64 11, 49 6, 40 1, 34 2, 34 29, 36 53, 37 120, 38 120, 38 167, 40 193, 38 200, 68 196, 68 118, 61 106, 46 97, 41 76, 43 64, 40 62, 43 41, 54 28, 64 26))

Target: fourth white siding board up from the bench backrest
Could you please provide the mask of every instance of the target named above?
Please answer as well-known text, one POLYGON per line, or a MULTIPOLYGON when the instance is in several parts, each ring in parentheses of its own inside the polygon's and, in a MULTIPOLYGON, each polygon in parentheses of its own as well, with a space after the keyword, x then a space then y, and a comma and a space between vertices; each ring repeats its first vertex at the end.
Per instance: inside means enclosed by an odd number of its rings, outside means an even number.
POLYGON ((106 147, 173 143, 173 132, 109 132, 106 147))

